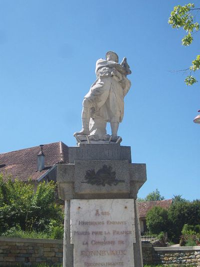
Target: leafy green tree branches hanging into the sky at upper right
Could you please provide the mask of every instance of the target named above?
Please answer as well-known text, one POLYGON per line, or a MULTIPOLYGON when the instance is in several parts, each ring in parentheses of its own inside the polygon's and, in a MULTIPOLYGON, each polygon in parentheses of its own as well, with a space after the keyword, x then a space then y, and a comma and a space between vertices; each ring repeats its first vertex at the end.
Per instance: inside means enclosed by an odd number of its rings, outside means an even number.
MULTIPOLYGON (((173 29, 182 28, 186 35, 182 38, 181 43, 183 46, 189 46, 193 41, 193 35, 199 31, 199 24, 195 21, 196 15, 194 12, 196 9, 194 8, 194 4, 187 4, 185 6, 175 6, 171 15, 168 19, 168 24, 171 25, 173 29)), ((185 78, 184 82, 186 85, 192 85, 197 82, 194 76, 191 74, 194 73, 196 70, 200 68, 200 55, 196 56, 191 63, 191 66, 186 70, 188 71, 189 75, 185 78)))

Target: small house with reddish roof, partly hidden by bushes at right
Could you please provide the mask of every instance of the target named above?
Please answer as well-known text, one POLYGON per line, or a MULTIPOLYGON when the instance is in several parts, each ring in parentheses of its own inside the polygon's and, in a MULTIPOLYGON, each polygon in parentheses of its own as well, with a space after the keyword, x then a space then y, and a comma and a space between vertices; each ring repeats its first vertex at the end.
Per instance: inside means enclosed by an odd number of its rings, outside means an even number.
POLYGON ((141 233, 147 230, 146 213, 154 206, 168 209, 171 203, 172 203, 172 199, 139 202, 138 209, 139 209, 139 224, 140 224, 141 233))

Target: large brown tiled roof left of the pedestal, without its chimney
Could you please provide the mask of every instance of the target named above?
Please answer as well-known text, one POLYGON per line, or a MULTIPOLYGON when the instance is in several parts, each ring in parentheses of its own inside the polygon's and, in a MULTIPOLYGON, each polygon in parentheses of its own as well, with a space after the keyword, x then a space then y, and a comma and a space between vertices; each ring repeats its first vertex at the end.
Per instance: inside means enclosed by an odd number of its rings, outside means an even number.
POLYGON ((37 154, 39 146, 11 151, 0 154, 0 173, 11 174, 22 181, 38 179, 57 162, 68 162, 68 147, 62 142, 43 145, 44 169, 37 170, 37 154))

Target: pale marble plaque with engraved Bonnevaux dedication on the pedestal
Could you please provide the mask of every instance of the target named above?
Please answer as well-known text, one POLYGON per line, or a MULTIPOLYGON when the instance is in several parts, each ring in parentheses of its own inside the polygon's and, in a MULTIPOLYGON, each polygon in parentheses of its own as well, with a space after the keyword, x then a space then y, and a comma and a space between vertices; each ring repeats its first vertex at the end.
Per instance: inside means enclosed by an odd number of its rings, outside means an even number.
POLYGON ((71 200, 74 267, 133 267, 131 199, 71 200), (77 207, 80 207, 77 209, 77 207))

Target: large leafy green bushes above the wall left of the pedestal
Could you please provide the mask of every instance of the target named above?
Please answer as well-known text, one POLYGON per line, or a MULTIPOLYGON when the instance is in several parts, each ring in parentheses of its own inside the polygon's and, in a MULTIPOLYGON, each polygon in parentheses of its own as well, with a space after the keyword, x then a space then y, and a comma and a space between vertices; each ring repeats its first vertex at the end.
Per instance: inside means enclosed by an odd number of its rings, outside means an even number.
POLYGON ((55 186, 53 182, 39 183, 34 192, 30 183, 3 179, 0 175, 0 234, 9 234, 15 228, 15 231, 44 231, 50 235, 52 220, 54 227, 61 227, 63 214, 55 204, 55 186))

